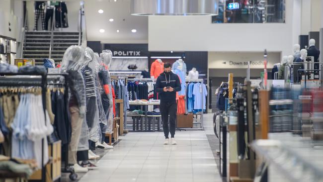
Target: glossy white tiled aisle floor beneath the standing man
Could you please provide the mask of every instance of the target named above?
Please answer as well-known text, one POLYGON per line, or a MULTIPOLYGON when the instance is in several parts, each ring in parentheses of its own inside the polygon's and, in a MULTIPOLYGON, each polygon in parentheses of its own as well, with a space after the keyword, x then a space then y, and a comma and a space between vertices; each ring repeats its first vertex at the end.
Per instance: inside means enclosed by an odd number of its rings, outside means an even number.
POLYGON ((162 145, 162 132, 130 132, 81 182, 222 182, 205 131, 176 131, 178 145, 162 145))

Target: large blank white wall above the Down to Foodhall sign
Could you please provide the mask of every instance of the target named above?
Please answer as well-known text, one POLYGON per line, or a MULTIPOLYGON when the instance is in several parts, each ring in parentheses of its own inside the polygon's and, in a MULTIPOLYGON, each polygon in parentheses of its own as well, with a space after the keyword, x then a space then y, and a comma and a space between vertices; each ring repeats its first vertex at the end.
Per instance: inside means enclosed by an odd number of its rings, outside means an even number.
POLYGON ((150 16, 149 50, 262 52, 267 49, 290 55, 293 43, 298 42, 298 36, 293 34, 293 6, 293 0, 286 0, 286 23, 212 24, 211 17, 206 16, 150 16))

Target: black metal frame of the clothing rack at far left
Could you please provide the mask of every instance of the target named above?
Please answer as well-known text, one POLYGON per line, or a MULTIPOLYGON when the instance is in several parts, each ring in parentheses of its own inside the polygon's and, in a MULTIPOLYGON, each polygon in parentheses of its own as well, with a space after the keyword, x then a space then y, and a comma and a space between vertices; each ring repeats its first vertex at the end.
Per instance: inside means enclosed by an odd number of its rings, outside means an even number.
MULTIPOLYGON (((38 86, 42 88, 42 102, 43 102, 43 111, 46 115, 46 90, 47 90, 47 74, 46 73, 0 73, 0 75, 5 75, 4 77, 0 77, 0 84, 1 86, 12 86, 12 87, 19 87, 19 86, 38 86), (41 76, 41 82, 35 82, 35 77, 22 77, 17 79, 17 77, 6 77, 6 76, 41 76), (3 82, 4 80, 8 80, 8 82, 3 82), (32 80, 33 82, 26 82, 32 80)), ((38 80, 38 79, 37 79, 38 80)), ((46 125, 46 121, 45 125, 46 125)), ((46 146, 47 147, 47 146, 46 146)), ((42 139, 42 175, 41 181, 46 181, 46 165, 44 166, 44 139, 42 139)))

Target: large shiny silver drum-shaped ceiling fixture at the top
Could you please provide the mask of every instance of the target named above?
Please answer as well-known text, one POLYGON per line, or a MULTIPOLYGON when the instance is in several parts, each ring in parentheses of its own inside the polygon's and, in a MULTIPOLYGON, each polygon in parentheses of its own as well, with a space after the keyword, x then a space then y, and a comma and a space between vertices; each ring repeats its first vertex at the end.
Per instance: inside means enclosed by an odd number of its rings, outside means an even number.
POLYGON ((131 14, 139 16, 218 15, 219 0, 131 0, 131 14))

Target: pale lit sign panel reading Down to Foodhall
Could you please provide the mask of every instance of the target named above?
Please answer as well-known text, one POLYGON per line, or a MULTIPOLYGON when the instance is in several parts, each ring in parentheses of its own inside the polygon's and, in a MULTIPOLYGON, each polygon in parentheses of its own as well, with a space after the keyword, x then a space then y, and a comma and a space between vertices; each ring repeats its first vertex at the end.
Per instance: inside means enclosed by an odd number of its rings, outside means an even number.
MULTIPOLYGON (((264 58, 262 53, 236 53, 236 52, 209 52, 208 67, 210 69, 228 69, 228 68, 264 68, 264 58)), ((272 68, 275 63, 280 63, 280 53, 268 53, 267 68, 272 68)))

